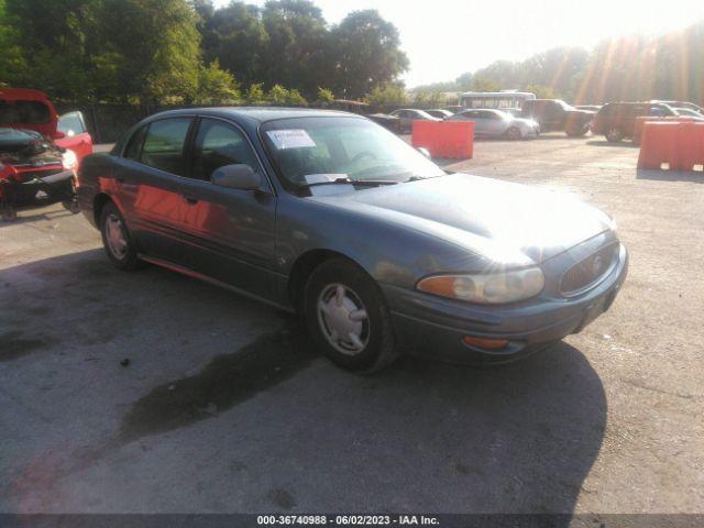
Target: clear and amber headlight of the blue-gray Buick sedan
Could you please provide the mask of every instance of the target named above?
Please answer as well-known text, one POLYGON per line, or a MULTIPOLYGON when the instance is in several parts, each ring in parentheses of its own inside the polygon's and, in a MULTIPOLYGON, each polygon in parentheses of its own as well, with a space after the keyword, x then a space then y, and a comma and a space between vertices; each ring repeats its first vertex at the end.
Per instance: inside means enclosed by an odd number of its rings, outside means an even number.
POLYGON ((546 284, 538 267, 499 273, 469 275, 436 275, 421 279, 416 286, 420 292, 452 299, 501 305, 535 297, 546 284))

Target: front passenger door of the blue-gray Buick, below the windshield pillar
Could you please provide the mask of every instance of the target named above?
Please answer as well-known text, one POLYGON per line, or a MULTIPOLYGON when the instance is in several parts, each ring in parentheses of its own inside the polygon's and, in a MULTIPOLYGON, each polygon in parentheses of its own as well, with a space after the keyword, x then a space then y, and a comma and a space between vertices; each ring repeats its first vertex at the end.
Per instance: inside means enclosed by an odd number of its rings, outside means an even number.
POLYGON ((187 265, 263 298, 272 298, 276 197, 245 133, 216 118, 199 120, 189 175, 183 182, 187 265), (262 176, 257 191, 216 186, 212 173, 245 164, 262 176))

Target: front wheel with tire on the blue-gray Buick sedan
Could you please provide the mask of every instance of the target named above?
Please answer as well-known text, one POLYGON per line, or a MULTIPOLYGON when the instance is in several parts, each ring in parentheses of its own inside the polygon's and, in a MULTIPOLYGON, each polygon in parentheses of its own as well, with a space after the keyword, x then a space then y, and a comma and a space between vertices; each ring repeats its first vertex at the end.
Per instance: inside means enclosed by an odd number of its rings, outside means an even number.
POLYGON ((375 372, 398 356, 382 292, 351 261, 333 258, 312 272, 304 312, 316 348, 343 369, 375 372), (358 319, 350 317, 353 314, 358 319), (352 334, 354 339, 348 338, 352 334))

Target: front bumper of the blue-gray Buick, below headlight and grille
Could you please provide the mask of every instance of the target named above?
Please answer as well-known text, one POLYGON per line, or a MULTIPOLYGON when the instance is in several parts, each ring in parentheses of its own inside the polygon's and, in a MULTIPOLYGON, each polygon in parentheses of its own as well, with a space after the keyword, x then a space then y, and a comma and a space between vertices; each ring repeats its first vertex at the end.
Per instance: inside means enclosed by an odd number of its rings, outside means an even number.
POLYGON ((585 294, 574 298, 539 297, 507 306, 477 306, 421 292, 383 285, 392 307, 399 348, 407 353, 451 363, 503 363, 530 355, 580 332, 608 310, 628 272, 628 252, 619 248, 616 265, 585 294), (502 350, 468 345, 465 336, 505 339, 502 350))

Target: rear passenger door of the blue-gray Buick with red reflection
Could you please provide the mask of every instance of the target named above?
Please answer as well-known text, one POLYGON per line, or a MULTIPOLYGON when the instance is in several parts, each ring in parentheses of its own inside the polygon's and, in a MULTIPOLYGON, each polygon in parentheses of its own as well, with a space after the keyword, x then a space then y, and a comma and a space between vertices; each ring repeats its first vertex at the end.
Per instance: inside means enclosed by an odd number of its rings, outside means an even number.
POLYGON ((184 264, 183 189, 193 117, 164 118, 136 130, 114 167, 116 193, 140 251, 184 264))

